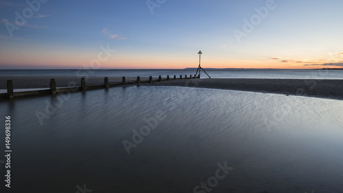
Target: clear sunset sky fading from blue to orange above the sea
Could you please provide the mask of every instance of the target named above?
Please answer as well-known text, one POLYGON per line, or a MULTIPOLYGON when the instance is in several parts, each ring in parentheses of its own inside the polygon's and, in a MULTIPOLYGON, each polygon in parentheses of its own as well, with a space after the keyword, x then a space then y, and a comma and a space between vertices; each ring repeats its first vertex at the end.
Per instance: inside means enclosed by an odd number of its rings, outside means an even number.
POLYGON ((342 0, 0 0, 0 69, 343 67, 342 0))

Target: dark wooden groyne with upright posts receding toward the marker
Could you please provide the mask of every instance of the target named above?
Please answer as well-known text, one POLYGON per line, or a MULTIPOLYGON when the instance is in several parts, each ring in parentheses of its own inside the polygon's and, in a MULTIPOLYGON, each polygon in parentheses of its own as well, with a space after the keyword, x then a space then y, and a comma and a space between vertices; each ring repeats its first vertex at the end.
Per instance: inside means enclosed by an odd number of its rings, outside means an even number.
MULTIPOLYGON (((190 79, 192 76, 189 76, 187 78, 187 75, 185 78, 182 78, 182 75, 180 75, 180 79, 190 79)), ((200 76, 193 78, 200 78, 200 76)), ((174 78, 169 78, 167 76, 166 78, 162 78, 162 76, 158 76, 157 80, 154 80, 152 76, 149 77, 149 80, 141 81, 141 77, 137 76, 136 81, 127 81, 126 77, 123 76, 121 79, 121 82, 108 82, 108 77, 104 77, 104 84, 92 84, 87 85, 86 84, 86 78, 81 78, 80 86, 72 86, 72 87, 62 87, 57 88, 56 87, 56 80, 54 78, 50 79, 49 89, 42 89, 42 90, 35 90, 35 91, 21 91, 21 92, 14 92, 14 86, 15 82, 12 80, 7 80, 7 93, 0 93, 0 100, 5 99, 14 99, 14 98, 25 98, 25 97, 32 97, 37 95, 56 95, 60 93, 71 93, 71 92, 77 92, 77 91, 88 91, 88 90, 94 90, 94 89, 108 89, 109 87, 117 87, 121 85, 130 85, 130 84, 143 84, 143 83, 153 83, 153 82, 162 82, 162 81, 169 81, 169 80, 176 80, 176 75, 174 75, 174 78)))

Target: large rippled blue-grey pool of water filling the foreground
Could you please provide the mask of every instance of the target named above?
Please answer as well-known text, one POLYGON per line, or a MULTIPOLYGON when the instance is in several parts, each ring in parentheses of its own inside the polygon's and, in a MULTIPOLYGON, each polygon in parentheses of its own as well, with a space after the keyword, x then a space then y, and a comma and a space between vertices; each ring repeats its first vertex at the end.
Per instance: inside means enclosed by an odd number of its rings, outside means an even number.
POLYGON ((12 192, 343 192, 342 100, 113 87, 0 109, 12 192))

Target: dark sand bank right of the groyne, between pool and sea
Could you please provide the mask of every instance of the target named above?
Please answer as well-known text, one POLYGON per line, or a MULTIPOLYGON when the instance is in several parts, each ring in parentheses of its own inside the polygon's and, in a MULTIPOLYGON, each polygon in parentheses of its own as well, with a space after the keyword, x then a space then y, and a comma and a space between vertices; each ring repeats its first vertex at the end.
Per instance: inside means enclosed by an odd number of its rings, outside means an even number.
POLYGON ((144 85, 228 89, 343 100, 343 80, 206 78, 154 82, 144 85))

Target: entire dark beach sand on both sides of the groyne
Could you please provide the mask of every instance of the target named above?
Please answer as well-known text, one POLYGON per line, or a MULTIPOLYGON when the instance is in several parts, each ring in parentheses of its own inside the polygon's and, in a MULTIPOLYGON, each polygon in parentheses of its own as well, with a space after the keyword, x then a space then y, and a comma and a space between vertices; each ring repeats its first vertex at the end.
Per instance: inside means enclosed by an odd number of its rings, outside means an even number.
MULTIPOLYGON (((75 76, 0 76, 0 89, 6 89, 6 80, 13 80, 14 89, 49 88, 51 78, 56 79, 57 87, 68 87, 70 82, 80 85, 79 77, 75 76)), ((137 77, 127 77, 127 82, 135 82, 137 77)), ((260 93, 277 93, 284 95, 301 95, 317 98, 343 100, 343 80, 315 79, 253 79, 253 78, 204 78, 176 79, 153 83, 143 83, 143 86, 174 86, 198 87, 208 89, 228 89, 237 91, 253 91, 260 93)), ((166 78, 164 77, 163 80, 166 78)), ((148 78, 141 77, 141 81, 148 78)), ((108 77, 110 83, 120 83, 121 77, 108 77)), ((104 84, 104 77, 86 77, 86 85, 104 84)))

